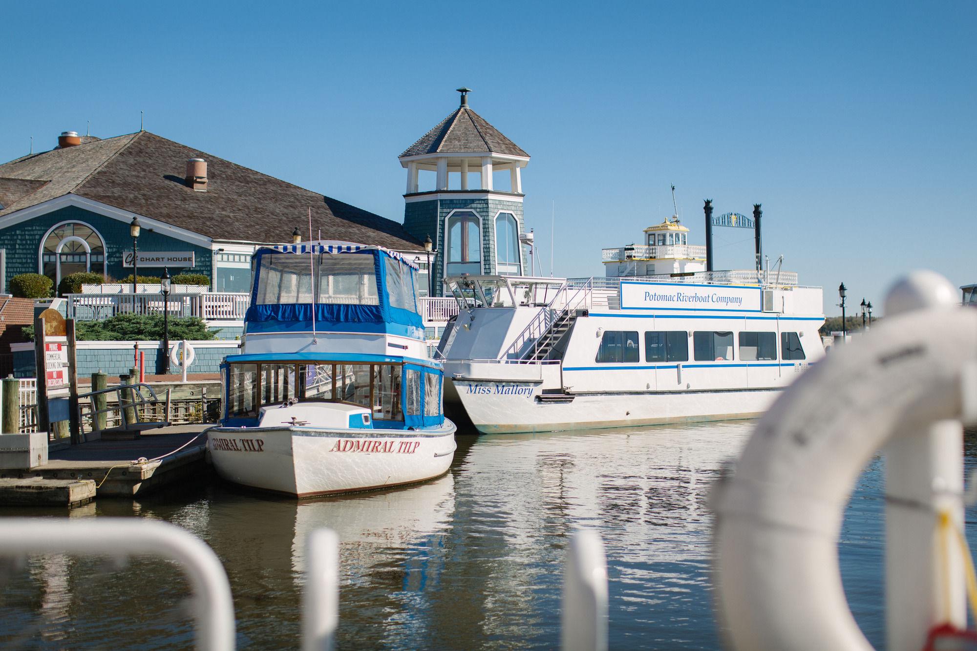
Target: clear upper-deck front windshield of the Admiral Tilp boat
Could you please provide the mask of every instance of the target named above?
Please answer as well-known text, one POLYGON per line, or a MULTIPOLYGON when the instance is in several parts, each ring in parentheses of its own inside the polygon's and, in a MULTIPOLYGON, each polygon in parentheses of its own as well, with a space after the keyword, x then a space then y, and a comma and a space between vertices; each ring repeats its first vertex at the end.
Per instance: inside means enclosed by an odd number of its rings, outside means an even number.
POLYGON ((319 304, 380 304, 373 256, 368 253, 279 253, 260 260, 257 304, 312 303, 314 290, 319 304))

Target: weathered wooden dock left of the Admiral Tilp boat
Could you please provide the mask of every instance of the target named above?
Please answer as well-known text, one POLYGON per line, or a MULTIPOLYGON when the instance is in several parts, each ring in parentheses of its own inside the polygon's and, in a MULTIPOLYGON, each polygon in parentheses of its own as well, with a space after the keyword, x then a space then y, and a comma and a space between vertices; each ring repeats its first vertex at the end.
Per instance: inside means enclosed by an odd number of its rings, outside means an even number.
POLYGON ((0 505, 132 499, 176 481, 207 481, 207 439, 200 433, 209 426, 164 427, 134 441, 92 441, 52 452, 46 465, 33 470, 0 470, 0 505))

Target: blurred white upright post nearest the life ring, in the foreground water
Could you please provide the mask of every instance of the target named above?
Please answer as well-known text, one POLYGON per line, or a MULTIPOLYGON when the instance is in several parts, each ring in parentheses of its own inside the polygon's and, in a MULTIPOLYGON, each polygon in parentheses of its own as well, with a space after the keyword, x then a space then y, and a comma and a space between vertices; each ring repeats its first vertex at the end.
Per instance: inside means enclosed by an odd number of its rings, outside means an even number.
POLYGON ((560 648, 563 651, 608 648, 608 564, 604 542, 595 531, 574 532, 567 549, 560 648))

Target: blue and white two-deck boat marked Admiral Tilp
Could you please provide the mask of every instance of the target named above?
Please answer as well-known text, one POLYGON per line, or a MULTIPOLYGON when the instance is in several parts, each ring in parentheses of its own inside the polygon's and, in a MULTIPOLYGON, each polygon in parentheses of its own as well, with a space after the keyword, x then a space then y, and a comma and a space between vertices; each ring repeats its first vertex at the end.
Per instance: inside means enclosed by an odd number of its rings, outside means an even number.
POLYGON ((221 367, 224 413, 207 431, 218 474, 299 498, 444 474, 455 426, 413 264, 313 241, 260 248, 253 269, 241 353, 221 367))

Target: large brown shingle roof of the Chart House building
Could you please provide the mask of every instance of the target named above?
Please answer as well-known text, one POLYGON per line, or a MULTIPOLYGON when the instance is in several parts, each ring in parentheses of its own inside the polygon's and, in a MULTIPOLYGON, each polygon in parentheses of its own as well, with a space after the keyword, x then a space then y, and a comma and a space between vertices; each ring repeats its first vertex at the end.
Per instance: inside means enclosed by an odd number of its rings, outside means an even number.
MULTIPOLYGON (((306 235, 308 210, 323 239, 343 239, 415 250, 423 244, 398 222, 329 196, 236 165, 142 131, 0 165, 4 183, 46 182, 5 207, 0 217, 72 193, 145 215, 212 239, 276 243, 291 241, 298 226, 306 235), (187 159, 207 161, 207 192, 184 182, 187 159)), ((15 184, 11 184, 13 187, 15 184)))

